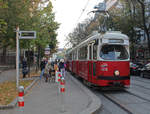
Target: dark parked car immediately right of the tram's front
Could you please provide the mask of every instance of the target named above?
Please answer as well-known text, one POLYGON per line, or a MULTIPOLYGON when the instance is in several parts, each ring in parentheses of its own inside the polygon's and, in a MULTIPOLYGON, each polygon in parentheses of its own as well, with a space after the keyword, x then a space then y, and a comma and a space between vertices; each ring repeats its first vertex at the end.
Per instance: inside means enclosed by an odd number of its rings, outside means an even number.
POLYGON ((140 75, 140 71, 143 65, 141 63, 132 63, 130 62, 130 74, 131 75, 140 75))

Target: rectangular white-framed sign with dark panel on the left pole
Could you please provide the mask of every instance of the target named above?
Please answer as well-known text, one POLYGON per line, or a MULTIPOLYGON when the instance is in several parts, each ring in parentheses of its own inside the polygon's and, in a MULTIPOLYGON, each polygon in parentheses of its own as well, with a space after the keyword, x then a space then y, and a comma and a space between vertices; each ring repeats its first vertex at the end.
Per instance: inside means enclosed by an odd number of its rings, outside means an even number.
POLYGON ((36 31, 19 31, 19 39, 35 39, 36 31))

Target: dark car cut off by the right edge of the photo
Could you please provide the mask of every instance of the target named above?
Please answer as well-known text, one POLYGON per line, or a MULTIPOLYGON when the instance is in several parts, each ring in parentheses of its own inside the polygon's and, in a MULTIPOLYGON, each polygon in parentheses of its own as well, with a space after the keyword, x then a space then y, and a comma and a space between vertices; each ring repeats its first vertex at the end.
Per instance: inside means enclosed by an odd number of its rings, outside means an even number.
POLYGON ((150 77, 150 63, 145 64, 140 69, 140 76, 141 77, 150 77))

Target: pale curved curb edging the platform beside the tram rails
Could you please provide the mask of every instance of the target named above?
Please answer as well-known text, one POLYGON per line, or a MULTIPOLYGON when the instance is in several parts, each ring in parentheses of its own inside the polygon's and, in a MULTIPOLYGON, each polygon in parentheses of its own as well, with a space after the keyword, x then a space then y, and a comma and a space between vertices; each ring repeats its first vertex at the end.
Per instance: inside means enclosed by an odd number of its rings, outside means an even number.
POLYGON ((101 100, 95 94, 93 94, 91 90, 80 83, 76 78, 74 78, 73 76, 70 77, 91 98, 89 100, 90 103, 87 105, 87 108, 79 114, 96 114, 102 106, 101 100))

